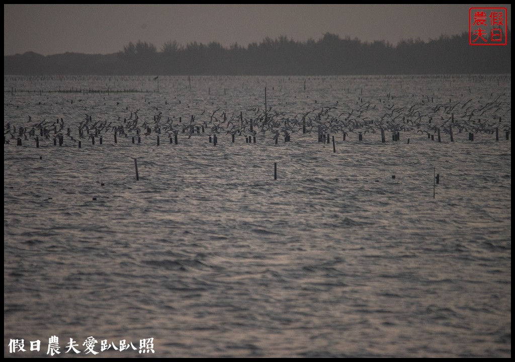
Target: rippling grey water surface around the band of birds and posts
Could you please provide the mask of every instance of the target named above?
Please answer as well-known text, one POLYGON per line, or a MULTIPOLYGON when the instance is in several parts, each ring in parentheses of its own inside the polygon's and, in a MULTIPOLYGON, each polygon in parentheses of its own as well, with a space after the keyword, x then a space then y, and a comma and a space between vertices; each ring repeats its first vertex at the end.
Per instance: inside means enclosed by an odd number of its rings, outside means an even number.
MULTIPOLYGON (((75 134, 84 114, 115 122, 138 109, 149 121, 218 108, 247 118, 265 86, 268 106, 291 117, 370 101, 371 118, 419 104, 447 119, 460 102, 458 118, 472 98, 502 101, 476 116, 511 125, 510 76, 159 80, 157 93, 148 77, 4 77, 4 126, 63 117, 75 134), (39 92, 59 87, 83 91, 39 92)), ((216 146, 181 133, 160 146, 155 135, 80 149, 11 140, 4 356, 46 356, 56 335, 61 356, 75 356, 70 338, 83 356, 93 336, 98 352, 101 340, 139 349, 153 338, 155 357, 510 357, 511 140, 455 132, 453 143, 336 134, 336 152, 302 132, 278 145, 268 134, 220 134, 216 146), (10 339, 27 352, 10 353, 10 339)))

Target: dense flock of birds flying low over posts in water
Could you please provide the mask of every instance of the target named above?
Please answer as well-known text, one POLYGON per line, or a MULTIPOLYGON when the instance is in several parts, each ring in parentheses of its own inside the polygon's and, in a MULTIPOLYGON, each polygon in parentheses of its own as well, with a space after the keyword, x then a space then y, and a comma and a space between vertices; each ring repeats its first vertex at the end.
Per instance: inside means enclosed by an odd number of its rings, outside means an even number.
MULTIPOLYGON (((190 119, 182 117, 165 116, 163 112, 149 115, 143 119, 138 112, 140 109, 129 111, 127 117, 118 116, 116 120, 94 120, 90 114, 85 114, 78 125, 66 127, 63 118, 55 121, 43 119, 33 122, 28 116, 27 125, 15 126, 9 122, 4 125, 4 143, 12 139, 41 139, 56 140, 58 137, 67 137, 72 142, 91 140, 92 137, 101 137, 108 134, 117 136, 150 136, 163 135, 176 137, 185 134, 188 139, 192 136, 209 135, 243 135, 262 136, 275 140, 280 137, 290 140, 290 135, 296 132, 326 134, 351 133, 377 133, 384 131, 396 134, 397 132, 413 132, 435 134, 441 130, 445 134, 469 132, 487 133, 511 131, 511 108, 503 109, 502 102, 497 99, 487 102, 484 106, 473 105, 473 100, 457 102, 449 105, 430 106, 428 102, 418 102, 414 105, 399 106, 386 105, 386 100, 379 105, 372 105, 369 101, 358 98, 355 108, 341 111, 338 102, 330 106, 314 108, 295 116, 287 116, 285 112, 278 112, 271 107, 263 109, 253 107, 239 114, 228 114, 221 108, 206 114, 204 110, 190 119), (361 102, 360 102, 361 101, 361 102), (425 110, 425 111, 424 111, 425 110), (508 117, 505 115, 508 114, 508 117), (249 116, 250 115, 250 116, 249 116), (505 120, 502 117, 505 116, 505 120), (451 126, 451 127, 450 127, 451 126), (77 132, 73 131, 77 129, 77 132), (73 134, 72 134, 73 132, 73 134)), ((327 139, 329 141, 329 138, 327 139)), ((54 141, 55 142, 55 141, 54 141)))

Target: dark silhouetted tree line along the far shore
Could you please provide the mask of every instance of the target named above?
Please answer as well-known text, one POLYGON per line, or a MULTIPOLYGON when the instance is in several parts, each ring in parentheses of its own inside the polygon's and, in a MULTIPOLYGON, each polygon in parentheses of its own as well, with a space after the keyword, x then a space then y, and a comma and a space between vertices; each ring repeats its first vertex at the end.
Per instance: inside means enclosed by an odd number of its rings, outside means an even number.
POLYGON ((326 33, 318 41, 265 38, 248 46, 168 41, 161 48, 130 42, 108 55, 33 52, 4 57, 16 75, 378 75, 511 73, 511 32, 505 46, 473 46, 469 33, 396 46, 326 33))

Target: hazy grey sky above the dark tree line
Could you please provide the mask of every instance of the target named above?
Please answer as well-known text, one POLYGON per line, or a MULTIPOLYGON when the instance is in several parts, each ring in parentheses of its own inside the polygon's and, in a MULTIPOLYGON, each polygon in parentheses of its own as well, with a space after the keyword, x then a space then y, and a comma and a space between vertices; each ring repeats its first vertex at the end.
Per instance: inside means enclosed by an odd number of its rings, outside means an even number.
MULTIPOLYGON (((163 43, 216 41, 247 46, 265 37, 298 41, 331 32, 362 41, 427 41, 469 31, 462 5, 96 5, 4 4, 4 55, 35 51, 110 54, 141 40, 163 43)), ((506 7, 511 28, 511 5, 506 7)))

